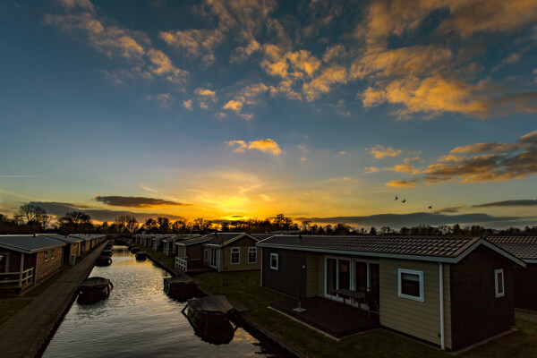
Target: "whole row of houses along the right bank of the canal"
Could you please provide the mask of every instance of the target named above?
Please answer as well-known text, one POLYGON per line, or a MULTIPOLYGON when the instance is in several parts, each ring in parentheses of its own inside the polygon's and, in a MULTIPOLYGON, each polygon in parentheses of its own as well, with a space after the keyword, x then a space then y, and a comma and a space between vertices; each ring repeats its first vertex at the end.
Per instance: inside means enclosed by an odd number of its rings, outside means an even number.
POLYGON ((260 269, 260 284, 375 311, 380 325, 455 351, 537 311, 537 237, 138 234, 175 267, 260 269))

